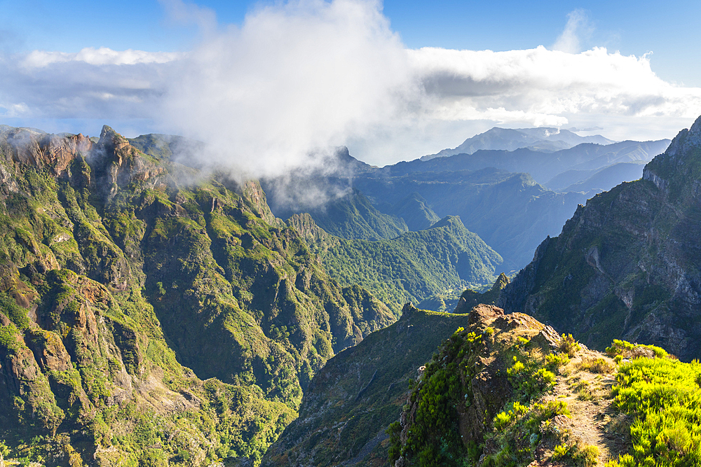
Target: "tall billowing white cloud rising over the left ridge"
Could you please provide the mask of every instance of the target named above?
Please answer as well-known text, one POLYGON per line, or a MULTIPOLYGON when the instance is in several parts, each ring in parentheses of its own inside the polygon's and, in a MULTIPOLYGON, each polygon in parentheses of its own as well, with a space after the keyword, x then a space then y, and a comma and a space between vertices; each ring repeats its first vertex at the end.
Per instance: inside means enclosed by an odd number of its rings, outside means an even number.
POLYGON ((253 174, 309 164, 309 151, 401 118, 420 95, 376 2, 261 8, 181 65, 165 99, 170 124, 253 174))

